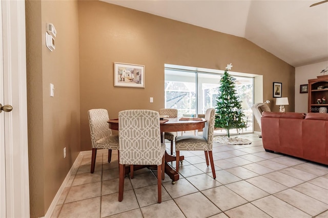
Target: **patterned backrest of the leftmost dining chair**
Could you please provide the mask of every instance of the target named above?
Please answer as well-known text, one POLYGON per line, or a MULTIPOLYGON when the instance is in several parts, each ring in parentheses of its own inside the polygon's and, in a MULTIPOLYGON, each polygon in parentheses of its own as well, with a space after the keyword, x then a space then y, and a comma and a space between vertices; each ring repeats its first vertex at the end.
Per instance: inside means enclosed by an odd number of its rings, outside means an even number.
POLYGON ((101 138, 111 136, 112 130, 109 128, 108 111, 106 109, 91 109, 88 111, 89 126, 91 134, 92 147, 96 147, 96 141, 101 138))

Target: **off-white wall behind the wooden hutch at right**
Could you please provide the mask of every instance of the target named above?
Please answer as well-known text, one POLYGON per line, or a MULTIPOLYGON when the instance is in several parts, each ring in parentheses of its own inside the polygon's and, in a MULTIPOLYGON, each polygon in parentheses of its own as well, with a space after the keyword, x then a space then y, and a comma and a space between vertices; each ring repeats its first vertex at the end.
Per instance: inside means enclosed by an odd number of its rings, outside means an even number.
MULTIPOLYGON (((328 67, 328 61, 309 64, 295 69, 295 112, 308 113, 308 93, 299 93, 301 84, 308 84, 309 79, 322 76, 320 72, 328 67)), ((324 73, 328 75, 328 72, 324 73)), ((328 96, 326 96, 328 97, 328 96)))

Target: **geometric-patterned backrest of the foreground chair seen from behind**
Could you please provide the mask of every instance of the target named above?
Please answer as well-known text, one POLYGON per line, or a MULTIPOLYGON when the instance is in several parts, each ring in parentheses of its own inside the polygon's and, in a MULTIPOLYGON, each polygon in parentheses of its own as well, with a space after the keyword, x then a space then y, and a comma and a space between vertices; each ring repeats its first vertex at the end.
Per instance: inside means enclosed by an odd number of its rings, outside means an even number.
POLYGON ((119 163, 160 165, 159 113, 127 110, 118 113, 119 163))

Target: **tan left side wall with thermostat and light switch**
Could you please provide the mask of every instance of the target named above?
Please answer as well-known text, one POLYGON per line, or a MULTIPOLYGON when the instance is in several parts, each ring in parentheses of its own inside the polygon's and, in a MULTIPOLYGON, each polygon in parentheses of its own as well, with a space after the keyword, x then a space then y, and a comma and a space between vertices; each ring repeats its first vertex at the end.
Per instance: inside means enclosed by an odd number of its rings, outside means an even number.
POLYGON ((77 9, 77 1, 26 1, 31 217, 45 215, 80 151, 77 9), (57 30, 53 52, 48 22, 57 30))

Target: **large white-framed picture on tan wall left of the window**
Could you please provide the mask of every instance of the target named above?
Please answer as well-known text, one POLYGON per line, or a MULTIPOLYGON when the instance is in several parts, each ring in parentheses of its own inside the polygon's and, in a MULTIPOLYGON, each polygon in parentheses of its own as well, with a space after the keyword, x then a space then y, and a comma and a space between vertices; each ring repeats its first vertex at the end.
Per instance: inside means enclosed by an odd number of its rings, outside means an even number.
POLYGON ((114 86, 145 88, 145 66, 114 62, 114 86))

